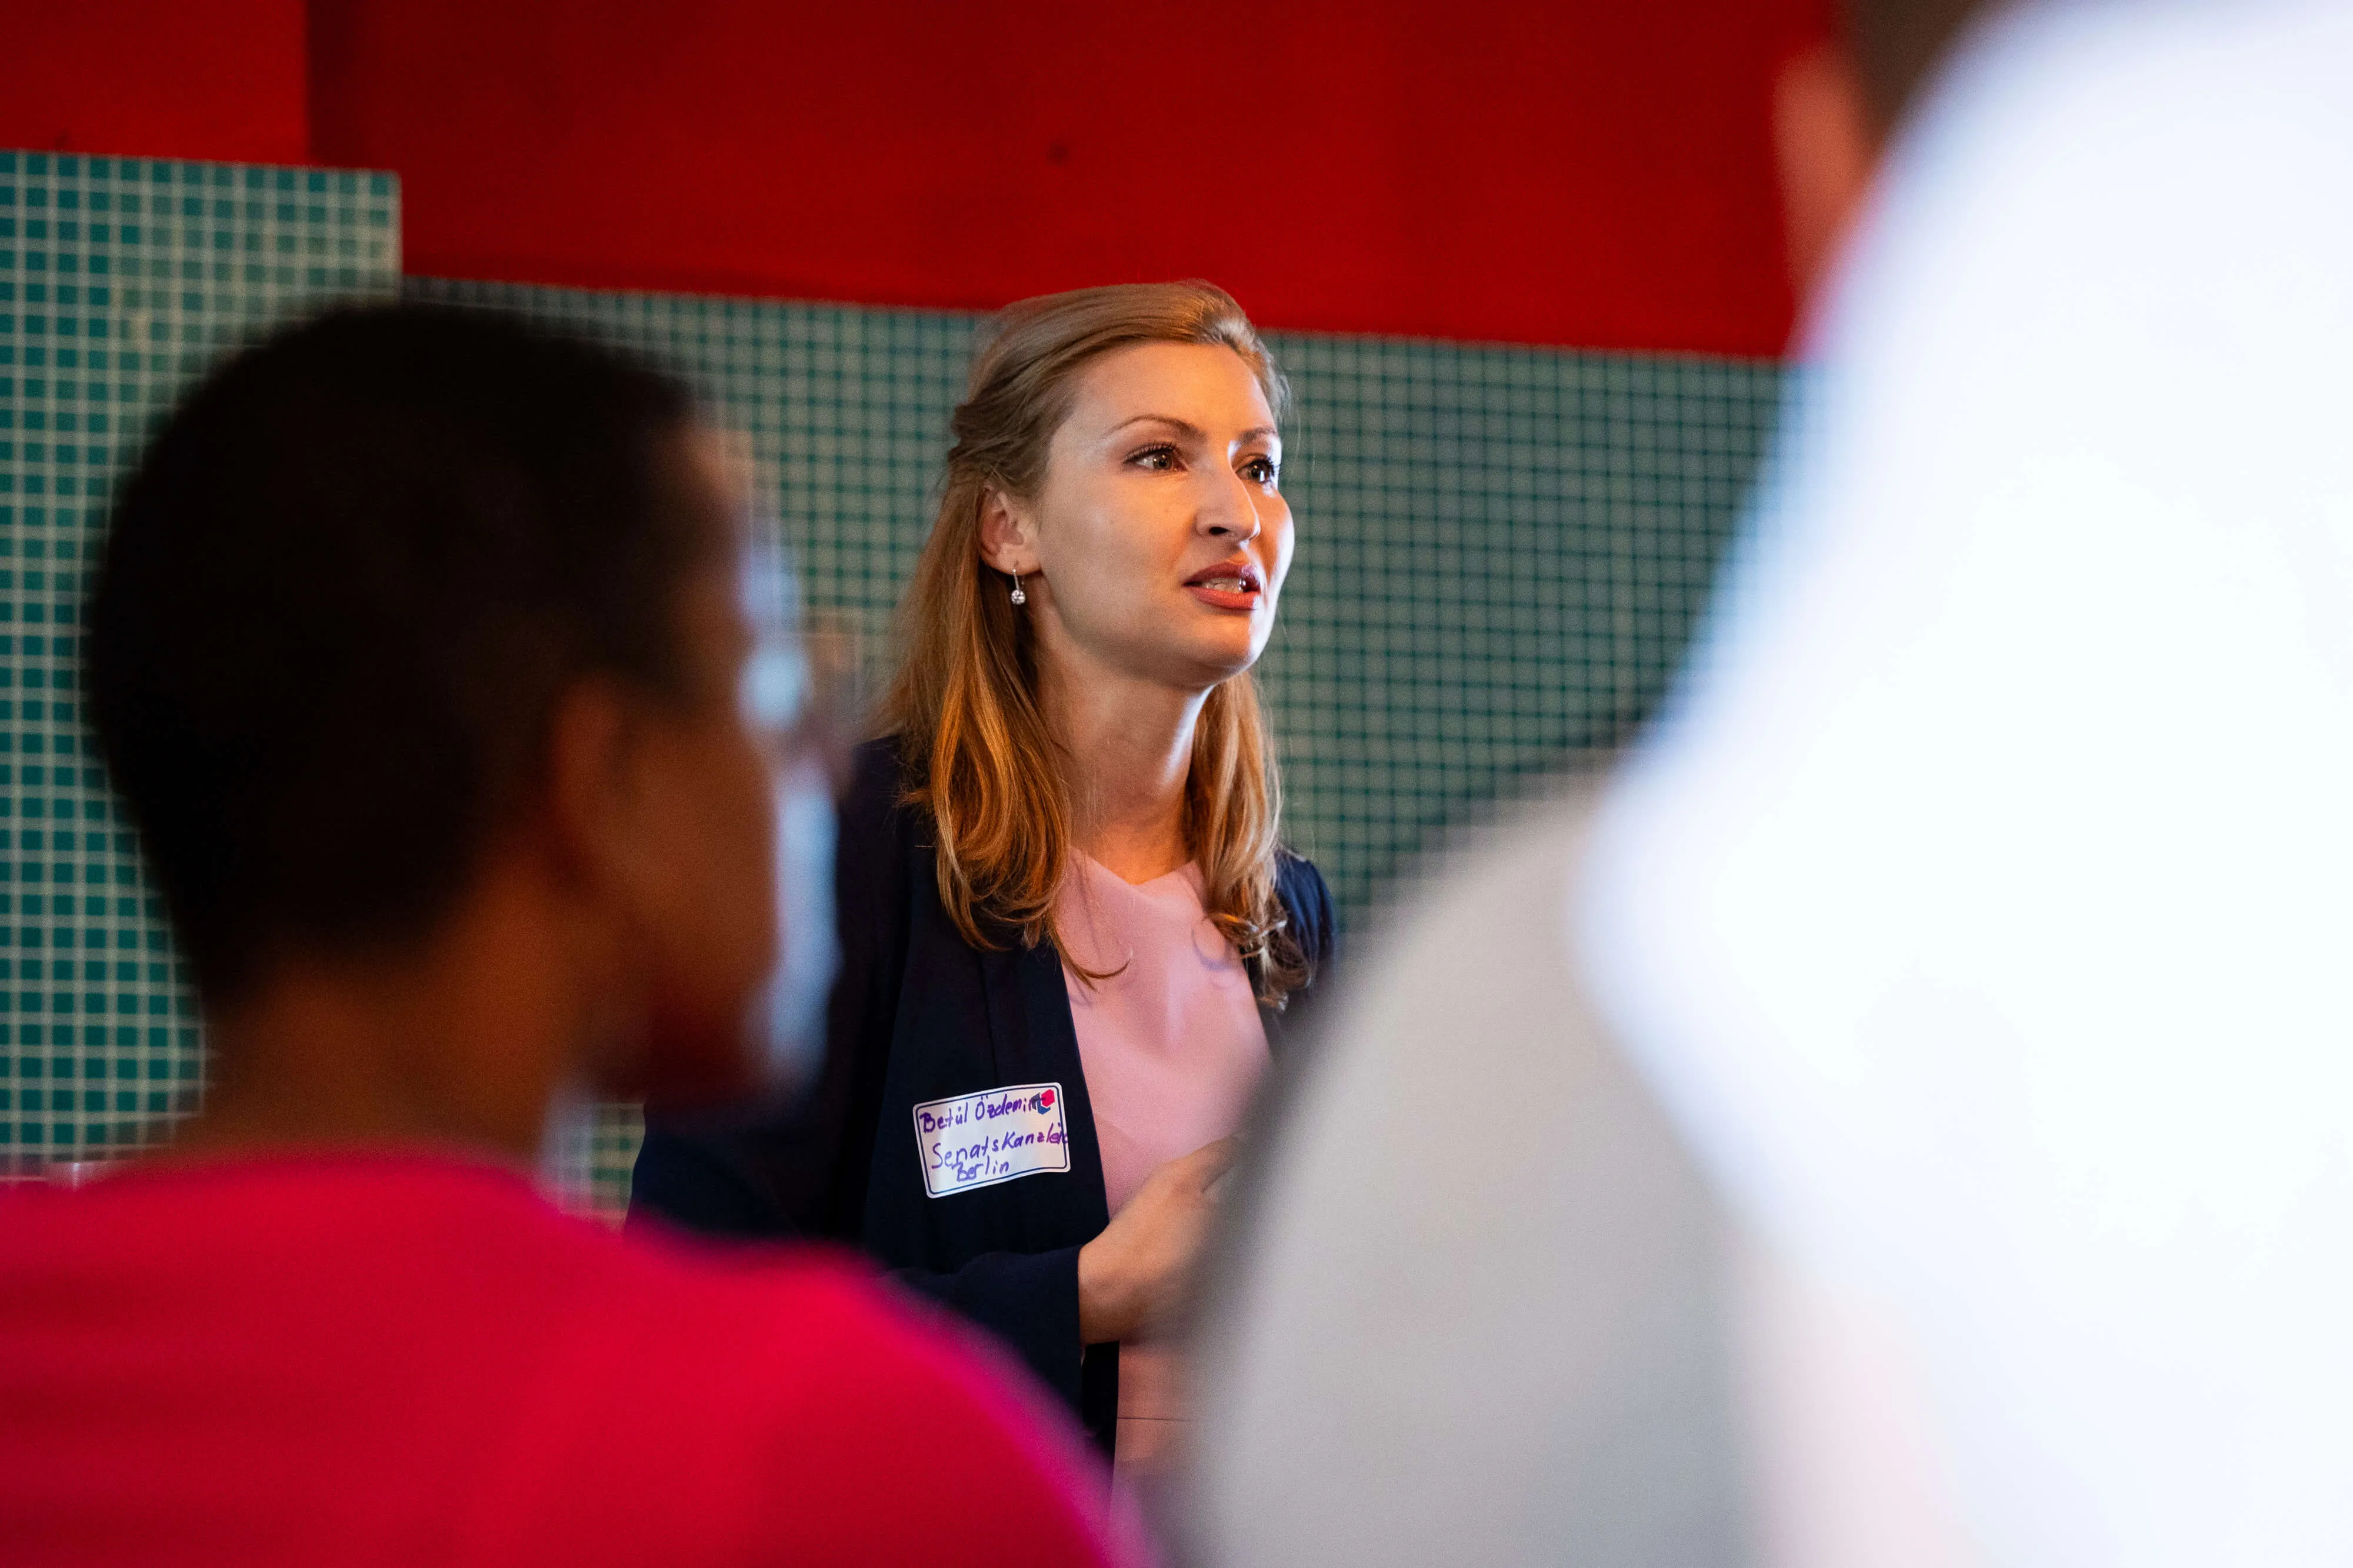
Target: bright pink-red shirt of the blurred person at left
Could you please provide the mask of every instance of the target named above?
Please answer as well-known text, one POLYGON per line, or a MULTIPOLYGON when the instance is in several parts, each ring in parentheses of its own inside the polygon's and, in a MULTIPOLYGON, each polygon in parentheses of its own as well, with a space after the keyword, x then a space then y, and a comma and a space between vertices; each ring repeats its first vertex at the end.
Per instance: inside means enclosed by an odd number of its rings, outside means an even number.
POLYGON ((1127 1561, 1042 1401, 854 1267, 431 1157, 0 1194, 0 1561, 1127 1561))

